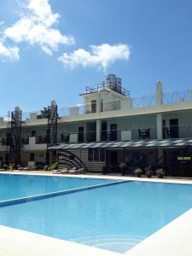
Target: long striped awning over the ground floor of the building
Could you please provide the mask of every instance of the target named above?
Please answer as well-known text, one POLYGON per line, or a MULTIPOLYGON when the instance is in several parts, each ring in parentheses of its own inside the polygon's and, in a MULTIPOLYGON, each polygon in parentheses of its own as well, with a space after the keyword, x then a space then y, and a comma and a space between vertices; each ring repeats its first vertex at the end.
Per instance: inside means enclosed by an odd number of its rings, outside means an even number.
POLYGON ((165 139, 165 140, 140 140, 127 142, 103 142, 103 143, 62 143, 54 149, 76 148, 178 148, 192 146, 192 139, 165 139))

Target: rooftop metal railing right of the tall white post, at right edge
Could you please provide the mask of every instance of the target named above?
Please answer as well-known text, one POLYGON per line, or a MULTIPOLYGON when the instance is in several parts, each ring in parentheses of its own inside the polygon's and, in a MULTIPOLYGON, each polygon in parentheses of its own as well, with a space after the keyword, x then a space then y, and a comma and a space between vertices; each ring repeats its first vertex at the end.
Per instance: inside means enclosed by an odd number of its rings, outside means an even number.
POLYGON ((163 93, 163 104, 172 104, 177 102, 189 102, 190 90, 174 90, 163 93))

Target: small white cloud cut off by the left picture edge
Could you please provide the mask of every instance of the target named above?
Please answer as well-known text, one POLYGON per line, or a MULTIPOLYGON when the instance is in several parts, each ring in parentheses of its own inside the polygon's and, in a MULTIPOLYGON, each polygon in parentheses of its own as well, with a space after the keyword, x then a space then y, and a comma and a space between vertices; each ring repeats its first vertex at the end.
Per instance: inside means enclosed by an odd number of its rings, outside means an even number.
POLYGON ((0 40, 0 58, 3 60, 10 60, 10 61, 19 61, 20 49, 17 47, 6 47, 3 44, 3 41, 0 40))

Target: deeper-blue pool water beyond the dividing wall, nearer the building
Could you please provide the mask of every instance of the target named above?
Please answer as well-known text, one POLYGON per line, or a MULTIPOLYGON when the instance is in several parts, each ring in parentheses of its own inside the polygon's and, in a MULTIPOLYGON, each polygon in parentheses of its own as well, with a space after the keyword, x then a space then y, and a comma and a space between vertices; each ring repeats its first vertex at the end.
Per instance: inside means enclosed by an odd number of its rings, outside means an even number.
POLYGON ((114 180, 102 178, 1 174, 0 201, 112 182, 114 180))

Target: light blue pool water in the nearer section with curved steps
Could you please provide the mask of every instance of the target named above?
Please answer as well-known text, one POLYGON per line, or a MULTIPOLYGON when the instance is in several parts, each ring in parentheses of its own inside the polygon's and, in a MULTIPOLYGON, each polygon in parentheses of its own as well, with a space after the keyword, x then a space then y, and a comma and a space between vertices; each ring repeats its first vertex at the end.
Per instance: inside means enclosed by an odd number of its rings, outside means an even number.
POLYGON ((191 207, 191 185, 129 182, 1 207, 0 224, 125 253, 191 207))

